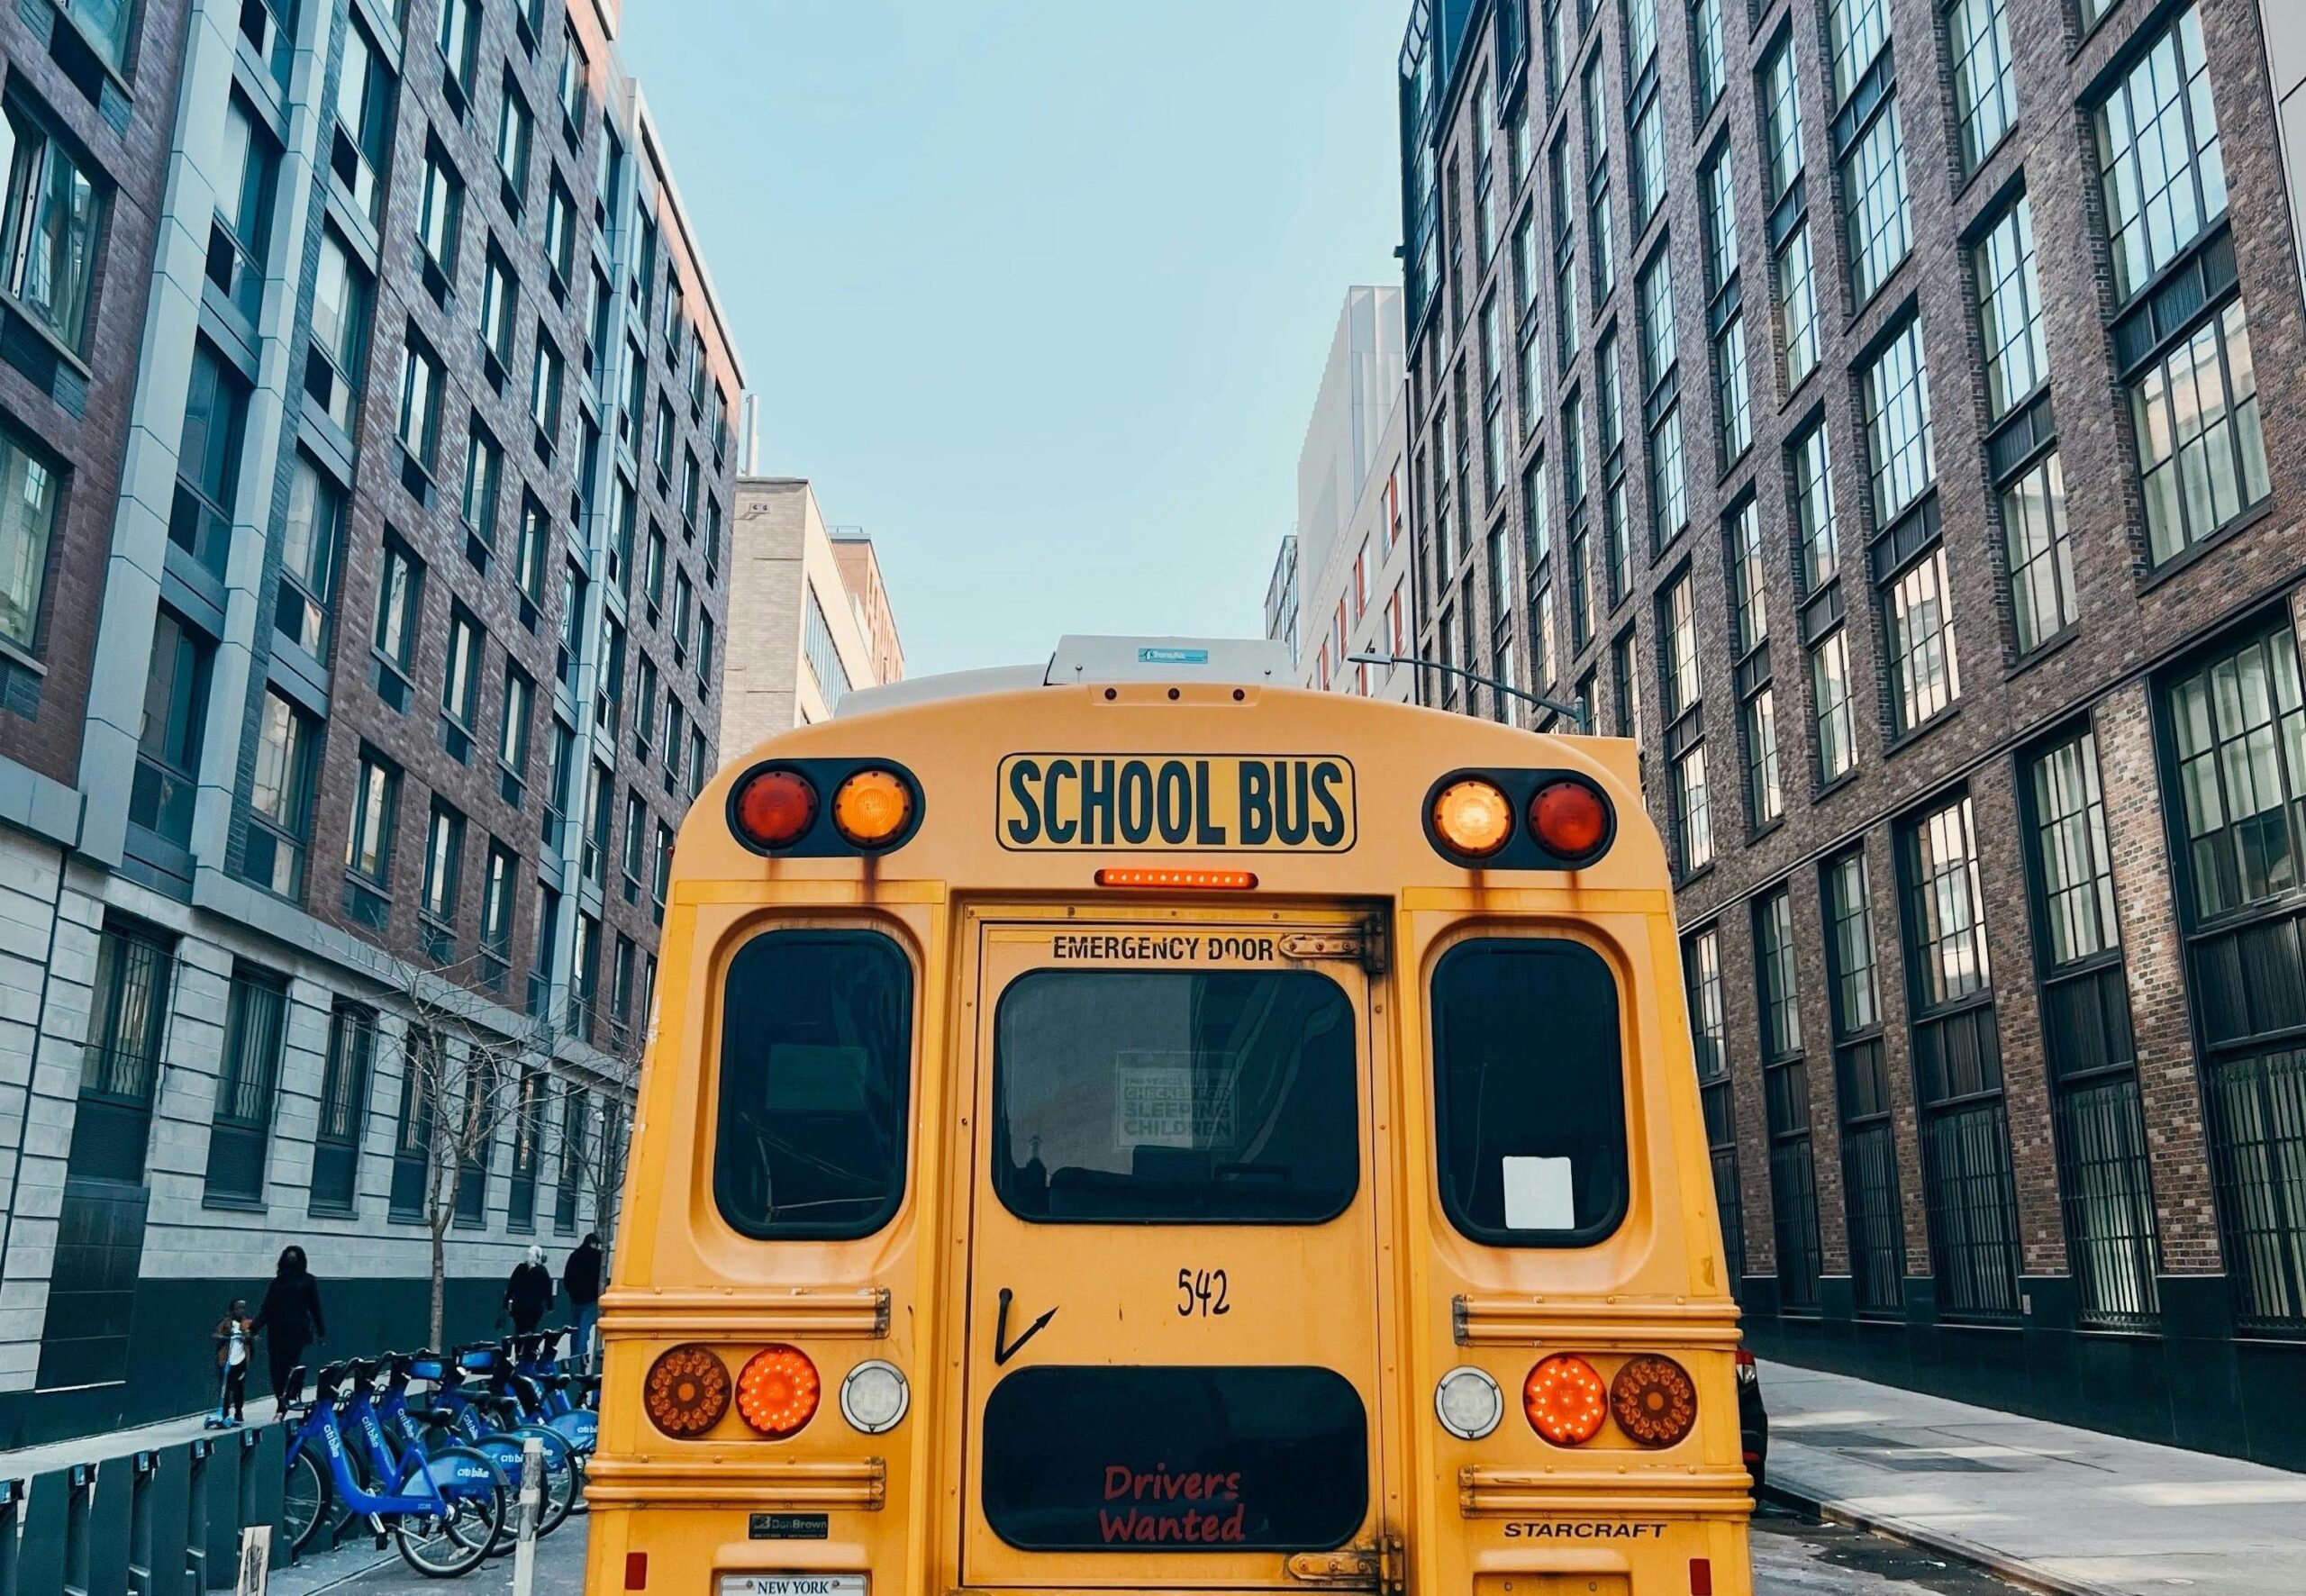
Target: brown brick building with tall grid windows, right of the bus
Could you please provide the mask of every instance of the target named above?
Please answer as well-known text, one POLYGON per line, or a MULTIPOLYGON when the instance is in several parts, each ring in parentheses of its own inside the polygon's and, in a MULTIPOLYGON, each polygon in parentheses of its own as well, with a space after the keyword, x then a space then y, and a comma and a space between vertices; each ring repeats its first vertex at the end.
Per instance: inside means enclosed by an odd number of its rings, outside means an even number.
POLYGON ((1418 648, 1642 743, 1753 1345, 2299 1467, 2258 5, 1418 0, 1400 67, 1418 648))

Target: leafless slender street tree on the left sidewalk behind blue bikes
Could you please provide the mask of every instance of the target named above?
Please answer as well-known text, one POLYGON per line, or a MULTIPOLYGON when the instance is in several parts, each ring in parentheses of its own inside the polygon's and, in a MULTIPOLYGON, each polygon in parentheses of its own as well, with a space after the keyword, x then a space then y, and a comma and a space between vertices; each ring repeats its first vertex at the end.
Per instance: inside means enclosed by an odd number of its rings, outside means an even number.
MULTIPOLYGON (((401 1033, 401 1128, 394 1188, 417 1183, 431 1234, 431 1340, 447 1315, 447 1229, 468 1179, 487 1179, 498 1126, 521 1105, 521 1077, 551 1061, 549 1019, 510 1031, 503 1008, 461 985, 457 966, 408 966, 394 994, 408 1019, 401 1033)), ((480 1190, 480 1188, 473 1188, 480 1190)))

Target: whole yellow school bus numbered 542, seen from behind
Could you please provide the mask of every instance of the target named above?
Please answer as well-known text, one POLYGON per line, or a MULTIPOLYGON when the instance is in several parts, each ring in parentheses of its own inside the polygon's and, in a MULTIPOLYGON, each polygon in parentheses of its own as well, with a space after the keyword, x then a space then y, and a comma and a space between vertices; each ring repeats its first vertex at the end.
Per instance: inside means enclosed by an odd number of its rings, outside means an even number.
POLYGON ((1633 743, 1068 639, 689 810, 590 1591, 1741 1596, 1633 743))

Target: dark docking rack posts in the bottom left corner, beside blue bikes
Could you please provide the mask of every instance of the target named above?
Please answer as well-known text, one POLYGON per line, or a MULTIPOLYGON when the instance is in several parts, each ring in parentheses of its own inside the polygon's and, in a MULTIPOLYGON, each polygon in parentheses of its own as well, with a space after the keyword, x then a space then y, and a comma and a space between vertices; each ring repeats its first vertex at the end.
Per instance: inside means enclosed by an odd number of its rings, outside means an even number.
POLYGON ((277 1423, 0 1478, 0 1596, 233 1589, 240 1531, 284 1545, 277 1423))

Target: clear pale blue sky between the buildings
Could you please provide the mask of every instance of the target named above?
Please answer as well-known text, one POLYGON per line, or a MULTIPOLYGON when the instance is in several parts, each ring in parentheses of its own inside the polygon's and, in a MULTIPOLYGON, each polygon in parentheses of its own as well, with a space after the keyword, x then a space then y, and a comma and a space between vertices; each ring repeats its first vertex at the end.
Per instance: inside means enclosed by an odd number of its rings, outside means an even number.
POLYGON ((1261 630, 1407 0, 627 0, 759 394, 906 669, 1261 630))

